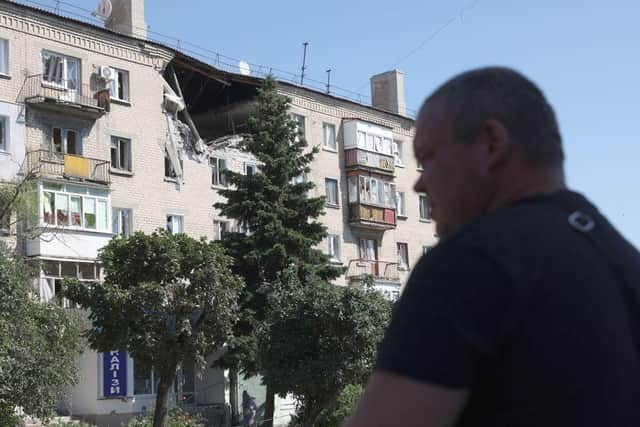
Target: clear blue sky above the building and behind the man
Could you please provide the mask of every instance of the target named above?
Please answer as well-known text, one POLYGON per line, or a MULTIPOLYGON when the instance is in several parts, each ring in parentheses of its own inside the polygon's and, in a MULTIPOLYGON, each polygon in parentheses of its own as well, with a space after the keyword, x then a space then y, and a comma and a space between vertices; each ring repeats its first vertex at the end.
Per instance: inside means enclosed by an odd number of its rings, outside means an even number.
POLYGON ((251 63, 299 73, 308 41, 308 77, 324 81, 331 68, 332 82, 364 93, 371 75, 390 69, 452 17, 396 67, 406 74, 409 108, 417 110, 437 85, 472 67, 524 72, 555 107, 569 185, 639 247, 637 0, 146 2, 152 31, 251 63))

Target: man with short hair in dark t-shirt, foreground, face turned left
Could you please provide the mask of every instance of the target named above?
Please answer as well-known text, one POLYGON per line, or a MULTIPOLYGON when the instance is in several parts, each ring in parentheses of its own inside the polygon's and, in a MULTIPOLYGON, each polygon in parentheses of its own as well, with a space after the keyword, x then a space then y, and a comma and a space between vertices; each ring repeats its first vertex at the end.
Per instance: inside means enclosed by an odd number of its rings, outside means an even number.
POLYGON ((442 240, 348 426, 640 426, 640 254, 565 188, 542 92, 506 68, 454 77, 414 149, 442 240))

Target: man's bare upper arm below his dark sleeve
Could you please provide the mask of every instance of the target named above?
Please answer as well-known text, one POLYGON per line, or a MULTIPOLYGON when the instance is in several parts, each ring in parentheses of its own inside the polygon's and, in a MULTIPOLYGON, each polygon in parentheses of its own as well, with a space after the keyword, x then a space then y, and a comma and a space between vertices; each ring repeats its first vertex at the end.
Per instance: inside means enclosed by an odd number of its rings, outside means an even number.
POLYGON ((465 389, 376 371, 344 427, 450 427, 462 412, 467 395, 465 389))

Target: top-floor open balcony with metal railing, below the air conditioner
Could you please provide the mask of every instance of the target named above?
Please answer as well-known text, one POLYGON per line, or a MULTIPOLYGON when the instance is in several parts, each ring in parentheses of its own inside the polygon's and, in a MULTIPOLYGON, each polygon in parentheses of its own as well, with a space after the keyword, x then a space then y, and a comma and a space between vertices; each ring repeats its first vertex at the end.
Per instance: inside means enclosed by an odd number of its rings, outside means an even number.
POLYGON ((75 81, 47 82, 41 74, 36 74, 25 79, 18 102, 33 108, 96 120, 105 113, 109 92, 104 89, 92 91, 89 85, 75 81))

